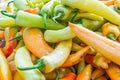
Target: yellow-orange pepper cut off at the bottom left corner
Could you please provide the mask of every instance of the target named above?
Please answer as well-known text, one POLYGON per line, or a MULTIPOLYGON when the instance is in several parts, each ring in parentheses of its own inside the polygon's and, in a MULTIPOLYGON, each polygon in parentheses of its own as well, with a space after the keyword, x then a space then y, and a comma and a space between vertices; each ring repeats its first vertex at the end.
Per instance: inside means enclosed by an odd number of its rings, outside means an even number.
POLYGON ((0 49, 0 80, 12 80, 12 73, 10 71, 8 62, 4 53, 0 49))

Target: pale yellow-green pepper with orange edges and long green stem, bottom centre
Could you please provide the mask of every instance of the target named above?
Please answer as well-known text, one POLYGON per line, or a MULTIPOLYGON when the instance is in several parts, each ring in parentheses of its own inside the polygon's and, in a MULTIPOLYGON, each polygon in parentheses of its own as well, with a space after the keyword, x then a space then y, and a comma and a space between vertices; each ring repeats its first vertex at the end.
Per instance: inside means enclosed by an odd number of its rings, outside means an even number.
POLYGON ((55 50, 47 55, 40 58, 38 63, 31 67, 18 66, 19 70, 31 70, 38 68, 45 73, 49 73, 54 69, 60 67, 68 58, 72 47, 72 40, 62 41, 58 44, 55 50))

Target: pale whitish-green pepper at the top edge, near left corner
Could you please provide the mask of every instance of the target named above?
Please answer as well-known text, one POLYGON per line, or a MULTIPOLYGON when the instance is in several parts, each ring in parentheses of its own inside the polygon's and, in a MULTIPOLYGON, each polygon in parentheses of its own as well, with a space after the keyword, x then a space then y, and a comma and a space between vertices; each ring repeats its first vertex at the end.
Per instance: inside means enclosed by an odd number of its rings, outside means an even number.
POLYGON ((30 8, 29 6, 27 6, 26 0, 13 0, 13 1, 14 1, 15 7, 19 10, 30 8))

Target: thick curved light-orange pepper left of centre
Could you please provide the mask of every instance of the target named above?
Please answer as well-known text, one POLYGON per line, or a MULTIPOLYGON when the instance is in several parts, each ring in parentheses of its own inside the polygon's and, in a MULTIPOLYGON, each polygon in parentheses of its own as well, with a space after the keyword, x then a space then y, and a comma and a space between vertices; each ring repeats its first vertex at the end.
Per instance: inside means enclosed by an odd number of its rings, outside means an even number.
POLYGON ((43 33, 38 28, 27 28, 23 32, 25 46, 38 58, 48 55, 53 51, 44 40, 43 33))

